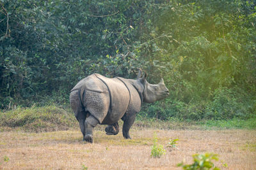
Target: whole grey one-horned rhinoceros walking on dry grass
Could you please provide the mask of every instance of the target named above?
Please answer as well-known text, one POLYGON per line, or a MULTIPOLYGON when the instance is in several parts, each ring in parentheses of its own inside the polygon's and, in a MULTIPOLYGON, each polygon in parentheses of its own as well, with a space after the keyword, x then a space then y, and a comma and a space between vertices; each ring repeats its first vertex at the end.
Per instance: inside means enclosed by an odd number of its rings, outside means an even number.
POLYGON ((169 95, 163 78, 152 85, 147 74, 139 70, 136 80, 121 77, 106 78, 94 73, 83 80, 70 92, 70 105, 79 122, 83 140, 93 142, 93 127, 108 125, 108 135, 119 132, 118 120, 124 121, 123 136, 131 139, 129 130, 140 111, 141 103, 154 103, 169 95))

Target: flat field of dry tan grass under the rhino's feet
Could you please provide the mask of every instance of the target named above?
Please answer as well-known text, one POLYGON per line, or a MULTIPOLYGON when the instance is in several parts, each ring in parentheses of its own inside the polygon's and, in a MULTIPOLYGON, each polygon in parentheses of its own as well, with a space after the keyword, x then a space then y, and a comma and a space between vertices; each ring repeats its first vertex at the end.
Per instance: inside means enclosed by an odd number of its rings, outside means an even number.
POLYGON ((218 153, 228 164, 221 169, 256 169, 256 131, 248 130, 156 130, 134 129, 133 139, 125 140, 122 132, 107 136, 101 129, 94 132, 94 143, 81 141, 78 129, 57 132, 0 133, 0 169, 181 169, 177 163, 192 162, 195 153, 218 153), (150 157, 153 134, 159 144, 179 138, 178 149, 160 159, 150 157), (8 157, 8 162, 4 162, 8 157))

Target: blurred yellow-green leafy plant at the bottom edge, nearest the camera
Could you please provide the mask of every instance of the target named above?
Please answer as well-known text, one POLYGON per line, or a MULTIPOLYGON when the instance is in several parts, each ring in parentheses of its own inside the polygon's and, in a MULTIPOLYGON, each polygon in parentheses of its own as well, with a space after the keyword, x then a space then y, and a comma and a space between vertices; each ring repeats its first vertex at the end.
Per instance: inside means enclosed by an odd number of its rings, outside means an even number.
MULTIPOLYGON (((220 170, 218 167, 214 167, 212 160, 218 160, 218 155, 215 153, 204 153, 193 155, 194 163, 191 165, 186 165, 183 162, 177 164, 177 166, 182 167, 185 170, 220 170)), ((227 164, 225 164, 227 166, 227 164)))

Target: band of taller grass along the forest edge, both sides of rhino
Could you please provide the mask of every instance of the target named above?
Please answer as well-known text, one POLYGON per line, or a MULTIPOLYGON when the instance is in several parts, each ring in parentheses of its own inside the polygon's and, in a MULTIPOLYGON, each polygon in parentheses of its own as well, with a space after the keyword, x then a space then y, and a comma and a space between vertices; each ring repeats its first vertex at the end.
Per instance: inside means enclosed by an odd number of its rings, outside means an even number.
MULTIPOLYGON (((122 129, 123 122, 119 121, 122 129)), ((26 132, 51 132, 63 131, 70 127, 79 129, 78 122, 70 110, 58 106, 42 106, 31 108, 17 108, 15 110, 0 110, 0 131, 20 129, 26 132)), ((96 129, 104 133, 104 125, 97 125, 96 129)), ((146 118, 138 115, 132 129, 154 128, 154 129, 256 129, 256 117, 248 119, 232 118, 230 120, 160 120, 157 118, 146 118)), ((122 132, 122 131, 121 131, 122 132)), ((100 134, 101 135, 101 134, 100 134)), ((140 143, 140 141, 131 141, 140 143)), ((122 142, 121 142, 122 143, 122 142)), ((147 143, 148 144, 148 143, 147 143)), ((147 145, 146 144, 146 145, 147 145)), ((145 143, 142 143, 145 145, 145 143)))

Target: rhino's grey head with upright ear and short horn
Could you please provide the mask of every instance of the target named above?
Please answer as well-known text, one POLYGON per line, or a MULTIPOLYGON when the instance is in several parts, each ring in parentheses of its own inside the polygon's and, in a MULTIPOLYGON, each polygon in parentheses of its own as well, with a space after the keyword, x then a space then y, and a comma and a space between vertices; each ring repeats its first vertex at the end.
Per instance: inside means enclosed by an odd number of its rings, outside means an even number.
POLYGON ((146 78, 147 74, 142 76, 142 71, 140 69, 137 80, 143 85, 143 101, 146 103, 154 103, 169 95, 169 90, 164 85, 163 78, 161 78, 161 81, 156 85, 148 83, 146 78))

